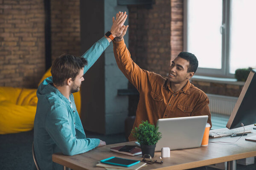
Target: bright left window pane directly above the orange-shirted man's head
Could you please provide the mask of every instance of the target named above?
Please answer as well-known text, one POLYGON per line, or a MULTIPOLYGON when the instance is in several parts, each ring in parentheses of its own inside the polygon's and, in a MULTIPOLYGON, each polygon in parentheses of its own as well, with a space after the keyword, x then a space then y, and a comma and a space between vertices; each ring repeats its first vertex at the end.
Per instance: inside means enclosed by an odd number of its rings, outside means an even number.
POLYGON ((198 67, 221 69, 222 0, 188 0, 187 51, 198 67))

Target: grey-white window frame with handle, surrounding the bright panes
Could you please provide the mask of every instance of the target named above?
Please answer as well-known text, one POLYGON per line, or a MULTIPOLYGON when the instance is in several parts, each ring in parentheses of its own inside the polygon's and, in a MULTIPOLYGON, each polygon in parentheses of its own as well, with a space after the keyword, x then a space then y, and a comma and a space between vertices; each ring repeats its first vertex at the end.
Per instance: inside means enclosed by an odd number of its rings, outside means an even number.
MULTIPOLYGON (((183 24, 183 51, 187 51, 187 18, 188 18, 188 2, 184 0, 184 24, 183 24)), ((230 6, 231 0, 222 0, 222 51, 221 51, 221 69, 215 68, 199 68, 196 71, 196 75, 210 76, 210 77, 226 77, 234 78, 234 74, 229 73, 229 45, 230 45, 230 6)), ((188 51, 193 53, 193 51, 188 51)), ((198 61, 200 62, 200 61, 198 61)))

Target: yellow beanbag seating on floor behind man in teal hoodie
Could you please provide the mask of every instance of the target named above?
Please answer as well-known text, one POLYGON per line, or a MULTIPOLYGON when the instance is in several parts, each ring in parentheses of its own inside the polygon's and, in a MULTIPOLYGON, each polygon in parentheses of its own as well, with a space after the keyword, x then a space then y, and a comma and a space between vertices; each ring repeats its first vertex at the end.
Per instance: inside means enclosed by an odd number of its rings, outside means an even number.
MULTIPOLYGON (((40 83, 50 76, 49 69, 40 83)), ((36 91, 37 89, 0 87, 0 134, 19 133, 33 129, 38 102, 36 91)), ((77 92, 73 95, 77 111, 80 113, 81 94, 77 92)))

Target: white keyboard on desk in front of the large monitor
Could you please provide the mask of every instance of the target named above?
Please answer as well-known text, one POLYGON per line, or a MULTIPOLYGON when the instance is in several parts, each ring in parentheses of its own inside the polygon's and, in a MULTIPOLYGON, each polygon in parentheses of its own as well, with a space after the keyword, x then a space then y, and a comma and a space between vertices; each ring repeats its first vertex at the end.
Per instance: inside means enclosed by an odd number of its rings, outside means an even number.
POLYGON ((221 137, 221 136, 230 136, 233 134, 241 134, 241 133, 250 133, 252 131, 252 128, 248 128, 245 127, 245 131, 244 131, 244 127, 238 127, 235 129, 228 129, 228 128, 224 128, 224 129, 214 129, 214 130, 210 130, 209 132, 209 137, 221 137))

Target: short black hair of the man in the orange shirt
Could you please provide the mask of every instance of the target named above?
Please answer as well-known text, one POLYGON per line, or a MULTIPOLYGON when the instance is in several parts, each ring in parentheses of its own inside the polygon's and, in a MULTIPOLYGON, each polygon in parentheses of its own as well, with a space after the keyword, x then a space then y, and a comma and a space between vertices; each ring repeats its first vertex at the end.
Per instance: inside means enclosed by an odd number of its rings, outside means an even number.
POLYGON ((194 54, 189 53, 189 52, 180 52, 180 54, 177 56, 183 59, 186 59, 189 62, 189 67, 187 72, 195 72, 198 68, 198 60, 195 57, 194 54))

